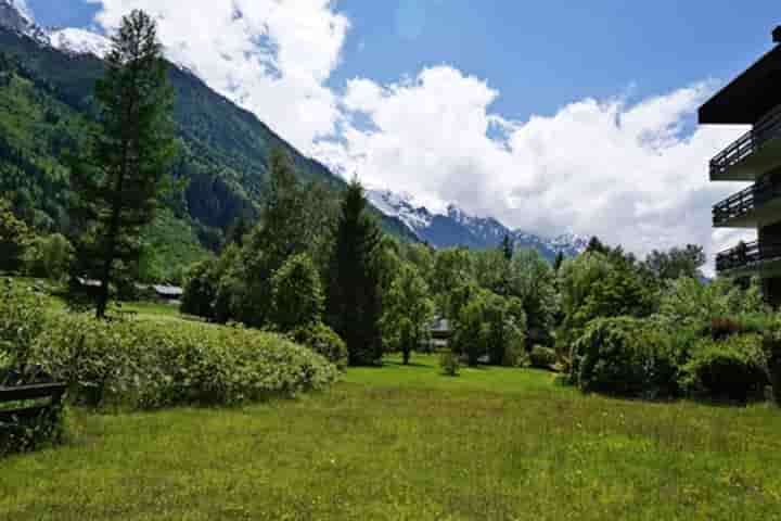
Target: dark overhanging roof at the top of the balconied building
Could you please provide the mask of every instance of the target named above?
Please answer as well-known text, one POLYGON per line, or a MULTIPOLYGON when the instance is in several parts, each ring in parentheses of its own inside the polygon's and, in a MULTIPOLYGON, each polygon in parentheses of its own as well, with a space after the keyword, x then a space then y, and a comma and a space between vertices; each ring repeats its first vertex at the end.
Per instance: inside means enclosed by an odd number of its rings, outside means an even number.
POLYGON ((780 104, 781 46, 776 46, 700 107, 700 124, 751 125, 780 104))

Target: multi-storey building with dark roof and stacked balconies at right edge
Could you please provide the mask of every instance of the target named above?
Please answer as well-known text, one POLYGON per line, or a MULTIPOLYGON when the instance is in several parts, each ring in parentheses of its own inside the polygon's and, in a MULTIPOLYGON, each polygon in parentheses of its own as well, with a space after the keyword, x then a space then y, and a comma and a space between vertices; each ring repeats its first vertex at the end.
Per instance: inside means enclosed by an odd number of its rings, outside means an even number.
POLYGON ((716 257, 721 275, 758 275, 781 305, 781 27, 776 47, 700 107, 700 124, 752 125, 710 160, 712 181, 753 181, 713 208, 714 227, 754 228, 758 240, 716 257))

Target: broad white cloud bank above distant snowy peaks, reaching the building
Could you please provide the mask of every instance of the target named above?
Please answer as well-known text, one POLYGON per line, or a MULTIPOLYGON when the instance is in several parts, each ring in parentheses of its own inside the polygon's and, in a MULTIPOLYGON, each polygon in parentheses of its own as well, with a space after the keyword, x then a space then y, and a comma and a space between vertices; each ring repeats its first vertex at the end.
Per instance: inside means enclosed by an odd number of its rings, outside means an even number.
POLYGON ((740 188, 708 181, 707 161, 743 131, 693 127, 713 85, 630 103, 585 99, 550 116, 492 113, 499 92, 449 66, 392 85, 355 79, 354 122, 319 153, 367 183, 456 202, 511 227, 598 234, 644 254, 684 243, 709 253, 737 240, 713 232, 710 207, 740 188))

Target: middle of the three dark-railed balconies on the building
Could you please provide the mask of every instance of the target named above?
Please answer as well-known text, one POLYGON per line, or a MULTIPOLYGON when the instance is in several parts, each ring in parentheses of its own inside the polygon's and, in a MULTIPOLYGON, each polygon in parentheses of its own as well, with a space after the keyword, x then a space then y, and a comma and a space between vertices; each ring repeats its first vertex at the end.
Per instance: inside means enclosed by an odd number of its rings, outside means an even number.
POLYGON ((781 183, 760 179, 713 208, 716 228, 759 228, 781 220, 781 183))

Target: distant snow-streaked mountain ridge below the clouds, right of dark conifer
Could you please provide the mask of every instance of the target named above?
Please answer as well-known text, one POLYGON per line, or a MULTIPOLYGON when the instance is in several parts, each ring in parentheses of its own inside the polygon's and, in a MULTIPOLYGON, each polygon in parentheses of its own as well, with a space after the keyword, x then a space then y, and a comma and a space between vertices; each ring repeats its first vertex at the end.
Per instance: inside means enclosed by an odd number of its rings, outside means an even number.
POLYGON ((421 241, 435 247, 496 247, 504 236, 510 236, 515 247, 535 249, 553 260, 559 253, 565 257, 579 255, 589 242, 588 238, 573 233, 547 239, 522 230, 511 230, 492 217, 475 217, 456 205, 449 205, 444 214, 433 213, 415 204, 410 195, 388 190, 368 190, 367 194, 381 212, 399 219, 421 241))

